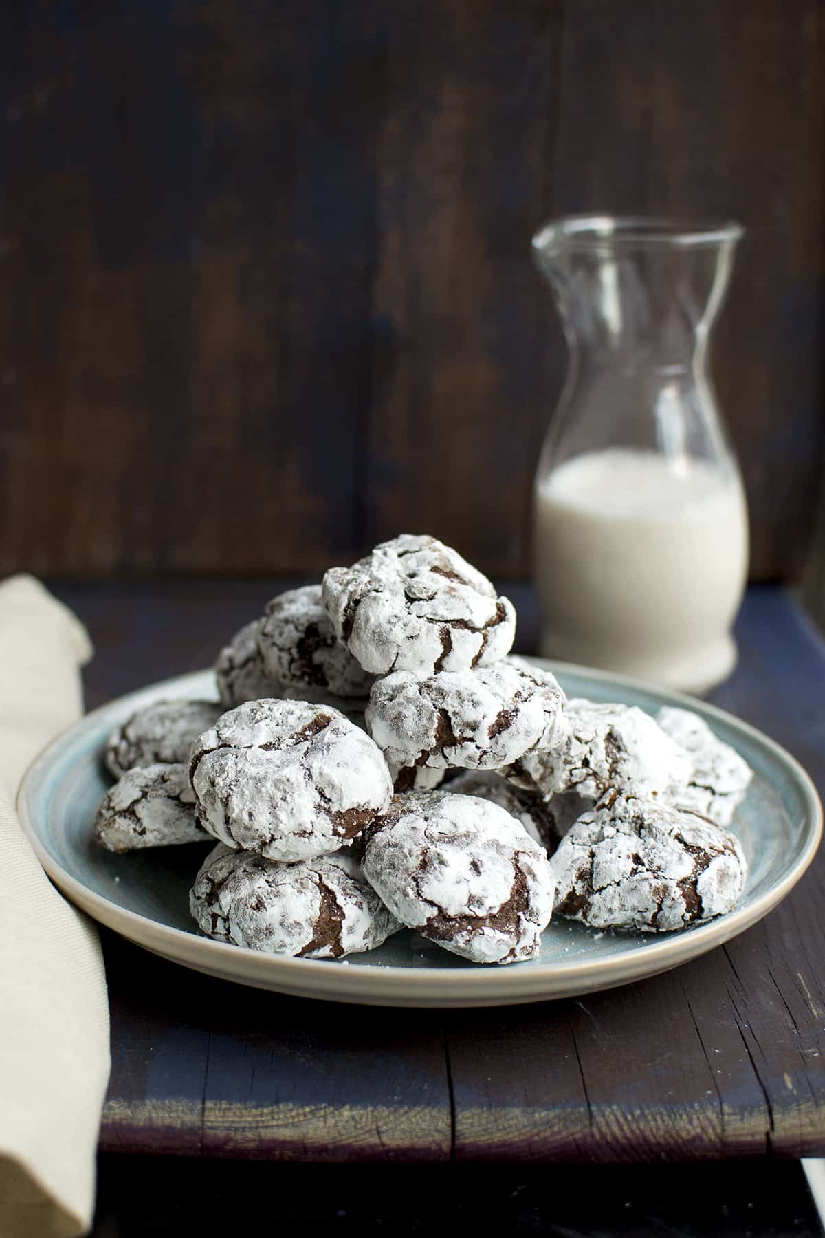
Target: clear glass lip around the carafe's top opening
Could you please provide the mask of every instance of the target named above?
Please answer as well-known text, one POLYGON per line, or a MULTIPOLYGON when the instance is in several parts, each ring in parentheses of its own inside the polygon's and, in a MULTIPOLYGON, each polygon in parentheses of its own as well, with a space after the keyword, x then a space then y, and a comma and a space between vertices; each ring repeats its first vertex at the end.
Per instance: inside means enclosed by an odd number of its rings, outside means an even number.
POLYGON ((688 219, 678 215, 560 215, 532 240, 538 254, 563 249, 612 253, 616 249, 699 249, 735 244, 745 234, 736 219, 688 219))

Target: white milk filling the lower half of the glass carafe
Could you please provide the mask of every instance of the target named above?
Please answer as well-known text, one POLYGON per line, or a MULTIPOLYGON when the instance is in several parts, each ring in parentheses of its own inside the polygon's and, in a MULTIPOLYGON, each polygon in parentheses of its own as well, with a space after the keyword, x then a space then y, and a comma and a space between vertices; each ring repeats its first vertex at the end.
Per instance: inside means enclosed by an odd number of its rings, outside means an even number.
POLYGON ((747 509, 738 477, 611 448, 536 489, 542 652, 703 692, 736 661, 747 509))

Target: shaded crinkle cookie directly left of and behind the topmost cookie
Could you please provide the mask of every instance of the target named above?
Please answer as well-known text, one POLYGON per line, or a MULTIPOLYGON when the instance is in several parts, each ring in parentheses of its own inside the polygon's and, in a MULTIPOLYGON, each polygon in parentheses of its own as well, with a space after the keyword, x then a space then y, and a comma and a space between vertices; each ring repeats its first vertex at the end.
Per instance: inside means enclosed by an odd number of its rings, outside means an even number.
POLYGON ((374 676, 338 639, 320 600, 320 584, 273 598, 257 634, 268 676, 291 688, 315 688, 338 697, 367 697, 374 676))

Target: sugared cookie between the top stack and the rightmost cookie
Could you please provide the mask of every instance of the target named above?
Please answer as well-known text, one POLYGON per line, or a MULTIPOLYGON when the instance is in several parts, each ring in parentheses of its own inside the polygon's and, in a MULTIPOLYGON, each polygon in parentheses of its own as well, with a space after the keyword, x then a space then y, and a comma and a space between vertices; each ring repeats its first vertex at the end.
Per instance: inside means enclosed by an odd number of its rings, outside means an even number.
POLYGON ((576 698, 564 711, 566 740, 528 753, 507 776, 545 796, 575 791, 595 801, 609 789, 669 797, 688 780, 685 751, 636 706, 576 698))

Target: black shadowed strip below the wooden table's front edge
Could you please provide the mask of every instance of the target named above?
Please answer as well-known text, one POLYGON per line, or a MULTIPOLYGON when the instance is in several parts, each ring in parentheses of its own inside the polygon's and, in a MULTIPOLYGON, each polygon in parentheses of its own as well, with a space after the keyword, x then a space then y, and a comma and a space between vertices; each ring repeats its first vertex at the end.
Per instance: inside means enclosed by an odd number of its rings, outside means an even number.
POLYGON ((819 1238, 798 1162, 343 1166, 103 1156, 92 1238, 819 1238))

